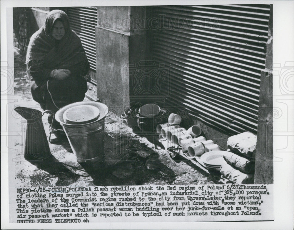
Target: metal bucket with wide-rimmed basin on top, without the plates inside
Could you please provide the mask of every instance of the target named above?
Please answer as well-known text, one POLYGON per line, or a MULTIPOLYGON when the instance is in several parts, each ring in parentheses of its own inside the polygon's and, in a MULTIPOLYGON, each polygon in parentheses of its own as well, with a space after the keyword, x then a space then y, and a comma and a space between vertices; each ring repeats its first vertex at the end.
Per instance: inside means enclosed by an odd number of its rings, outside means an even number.
POLYGON ((94 101, 81 101, 59 109, 55 119, 60 122, 69 140, 71 149, 76 154, 77 161, 104 162, 104 119, 108 114, 105 104, 94 101), (68 124, 63 119, 64 112, 74 106, 92 105, 99 109, 100 114, 94 121, 86 124, 68 124))

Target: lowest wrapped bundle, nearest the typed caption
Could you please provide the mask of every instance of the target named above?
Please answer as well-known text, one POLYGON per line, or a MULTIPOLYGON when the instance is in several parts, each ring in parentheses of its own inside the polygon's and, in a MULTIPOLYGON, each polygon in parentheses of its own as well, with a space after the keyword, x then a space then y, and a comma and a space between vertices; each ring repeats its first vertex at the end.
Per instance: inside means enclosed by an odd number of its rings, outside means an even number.
POLYGON ((252 183, 251 180, 253 178, 253 175, 242 173, 228 164, 223 164, 222 166, 220 166, 220 173, 225 178, 232 181, 234 184, 252 183))

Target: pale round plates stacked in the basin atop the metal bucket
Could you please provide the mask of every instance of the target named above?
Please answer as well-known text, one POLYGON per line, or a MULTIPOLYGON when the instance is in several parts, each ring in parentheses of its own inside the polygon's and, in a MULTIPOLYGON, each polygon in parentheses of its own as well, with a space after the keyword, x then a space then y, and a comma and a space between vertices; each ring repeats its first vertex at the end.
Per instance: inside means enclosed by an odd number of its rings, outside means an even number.
POLYGON ((67 109, 63 119, 69 124, 81 124, 95 120, 99 116, 99 109, 92 105, 79 105, 67 109))

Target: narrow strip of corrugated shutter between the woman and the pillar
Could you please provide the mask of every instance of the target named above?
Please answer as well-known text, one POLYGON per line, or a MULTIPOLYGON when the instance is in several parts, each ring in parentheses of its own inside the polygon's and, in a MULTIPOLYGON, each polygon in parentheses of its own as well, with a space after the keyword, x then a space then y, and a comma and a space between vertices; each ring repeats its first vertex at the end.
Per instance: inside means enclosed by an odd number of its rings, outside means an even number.
MULTIPOLYGON (((91 70, 96 73, 95 26, 97 25, 97 7, 69 7, 69 22, 81 38, 91 70)), ((96 81, 96 79, 92 79, 96 81)))

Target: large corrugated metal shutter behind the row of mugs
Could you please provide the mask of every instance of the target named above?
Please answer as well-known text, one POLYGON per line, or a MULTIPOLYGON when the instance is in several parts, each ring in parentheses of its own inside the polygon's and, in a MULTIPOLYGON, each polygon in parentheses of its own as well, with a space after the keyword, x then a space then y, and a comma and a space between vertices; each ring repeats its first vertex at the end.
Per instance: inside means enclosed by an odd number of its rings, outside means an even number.
POLYGON ((229 134, 256 134, 269 13, 269 5, 155 6, 153 60, 171 74, 166 104, 229 134))

